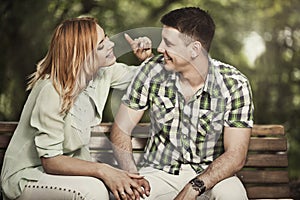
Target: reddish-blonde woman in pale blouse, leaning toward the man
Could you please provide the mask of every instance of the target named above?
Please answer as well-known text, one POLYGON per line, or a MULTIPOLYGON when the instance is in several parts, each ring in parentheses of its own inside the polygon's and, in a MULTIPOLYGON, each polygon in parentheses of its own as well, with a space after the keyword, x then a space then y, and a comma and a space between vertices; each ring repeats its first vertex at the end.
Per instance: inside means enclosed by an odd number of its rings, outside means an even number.
MULTIPOLYGON (((151 55, 145 38, 129 42, 140 59, 151 55)), ((116 199, 134 198, 133 190, 143 193, 133 180, 141 176, 92 162, 88 149, 109 88, 125 89, 135 73, 115 63, 113 47, 94 18, 66 20, 56 28, 6 151, 1 173, 6 198, 108 199, 106 187, 116 199)))

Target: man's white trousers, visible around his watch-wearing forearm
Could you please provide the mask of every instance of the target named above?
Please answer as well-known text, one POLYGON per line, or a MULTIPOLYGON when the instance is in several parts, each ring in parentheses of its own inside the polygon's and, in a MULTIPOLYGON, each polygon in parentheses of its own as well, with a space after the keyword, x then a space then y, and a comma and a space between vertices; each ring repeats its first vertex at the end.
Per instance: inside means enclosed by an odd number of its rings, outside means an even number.
MULTIPOLYGON (((182 165, 179 175, 172 175, 162 170, 145 167, 140 174, 149 181, 151 191, 147 200, 171 200, 194 177, 196 172, 190 165, 182 165)), ((244 200, 248 199, 246 190, 236 176, 227 178, 206 191, 197 200, 244 200)))

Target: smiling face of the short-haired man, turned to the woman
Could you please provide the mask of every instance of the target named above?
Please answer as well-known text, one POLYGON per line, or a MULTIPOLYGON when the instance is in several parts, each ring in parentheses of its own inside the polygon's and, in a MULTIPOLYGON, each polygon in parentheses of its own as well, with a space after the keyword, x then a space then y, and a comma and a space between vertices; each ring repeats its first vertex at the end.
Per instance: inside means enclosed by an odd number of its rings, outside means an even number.
POLYGON ((157 50, 164 55, 165 69, 183 72, 191 61, 191 48, 183 41, 183 34, 177 29, 164 26, 162 41, 157 50))

